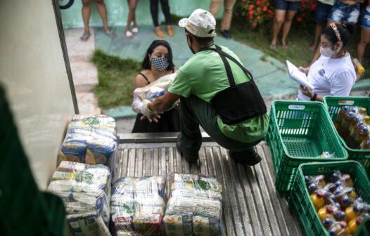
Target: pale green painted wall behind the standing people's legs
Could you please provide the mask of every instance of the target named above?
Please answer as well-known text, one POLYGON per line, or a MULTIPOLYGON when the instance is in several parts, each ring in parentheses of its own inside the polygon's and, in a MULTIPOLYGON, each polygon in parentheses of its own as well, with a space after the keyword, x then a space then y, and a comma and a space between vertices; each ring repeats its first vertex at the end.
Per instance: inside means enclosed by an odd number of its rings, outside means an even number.
MULTIPOLYGON (((107 11, 108 11, 108 25, 109 26, 125 26, 127 24, 128 15, 128 4, 126 0, 106 0, 107 11)), ((149 0, 139 0, 136 7, 136 22, 139 25, 151 25, 153 20, 151 18, 151 11, 149 9, 149 0)), ((169 0, 170 12, 174 15, 189 16, 196 8, 203 8, 209 10, 210 0, 169 0)), ((60 10, 62 13, 63 27, 68 28, 80 28, 84 27, 82 22, 82 1, 75 0, 75 3, 66 10, 60 10)), ((222 17, 223 8, 219 10, 217 18, 222 17)), ((159 18, 158 20, 164 21, 164 15, 162 14, 162 8, 159 6, 159 18)), ((90 26, 102 26, 96 6, 91 6, 91 17, 90 26)), ((172 22, 173 25, 177 22, 172 22)))

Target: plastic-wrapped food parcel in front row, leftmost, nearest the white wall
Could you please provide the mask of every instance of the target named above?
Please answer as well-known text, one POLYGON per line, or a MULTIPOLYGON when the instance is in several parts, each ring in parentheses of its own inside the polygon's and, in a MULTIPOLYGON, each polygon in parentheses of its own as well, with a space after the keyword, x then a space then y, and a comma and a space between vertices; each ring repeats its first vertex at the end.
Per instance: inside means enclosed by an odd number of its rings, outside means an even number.
POLYGON ((110 183, 110 170, 107 166, 65 161, 60 163, 47 190, 63 200, 68 234, 110 235, 110 183))

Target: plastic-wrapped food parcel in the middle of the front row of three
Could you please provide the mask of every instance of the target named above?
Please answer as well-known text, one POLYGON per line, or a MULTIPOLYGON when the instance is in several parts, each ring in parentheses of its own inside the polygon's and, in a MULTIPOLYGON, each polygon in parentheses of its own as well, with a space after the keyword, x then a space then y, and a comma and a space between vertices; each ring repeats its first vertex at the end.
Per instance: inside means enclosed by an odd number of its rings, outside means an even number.
POLYGON ((110 200, 113 235, 163 235, 164 189, 162 176, 119 178, 110 200))

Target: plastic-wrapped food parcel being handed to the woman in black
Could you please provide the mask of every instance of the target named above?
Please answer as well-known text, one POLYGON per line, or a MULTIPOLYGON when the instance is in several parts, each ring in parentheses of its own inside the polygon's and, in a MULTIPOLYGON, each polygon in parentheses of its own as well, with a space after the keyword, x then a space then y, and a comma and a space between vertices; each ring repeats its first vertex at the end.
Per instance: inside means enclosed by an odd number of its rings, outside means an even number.
MULTIPOLYGON (((147 99, 154 102, 158 97, 164 95, 168 89, 170 89, 170 86, 172 86, 172 83, 176 78, 176 74, 177 73, 167 74, 145 87, 135 89, 134 100, 131 105, 132 110, 136 113, 141 113, 143 100, 147 99)), ((176 104, 177 102, 174 103, 172 107, 176 104)))

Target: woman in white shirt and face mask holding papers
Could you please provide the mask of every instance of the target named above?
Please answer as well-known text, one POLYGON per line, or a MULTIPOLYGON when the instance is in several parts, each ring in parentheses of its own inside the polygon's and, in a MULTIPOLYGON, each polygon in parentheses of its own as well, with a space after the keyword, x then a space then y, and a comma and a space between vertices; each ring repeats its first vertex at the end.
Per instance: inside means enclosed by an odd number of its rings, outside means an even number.
POLYGON ((310 67, 298 69, 307 74, 314 89, 300 86, 298 100, 322 101, 324 96, 349 96, 356 81, 347 45, 355 33, 354 23, 331 23, 321 32, 321 56, 310 67))

